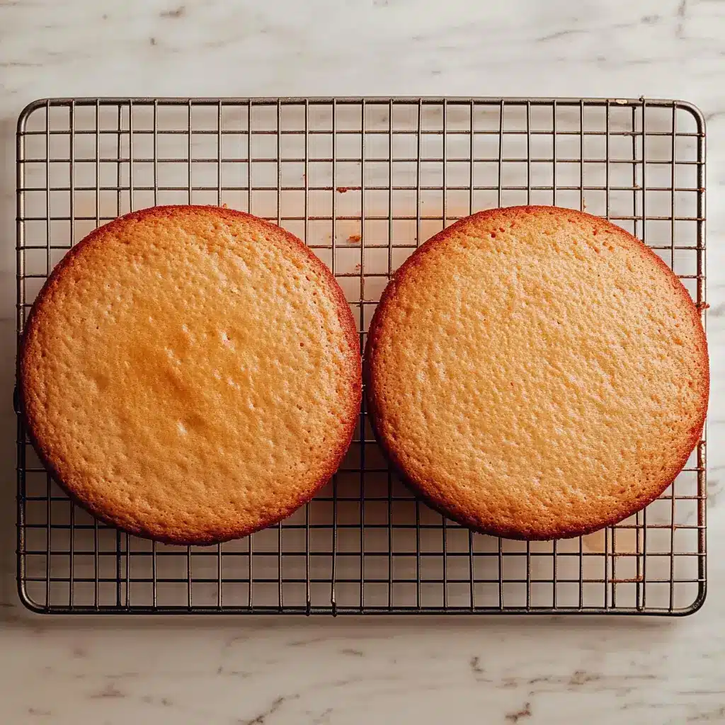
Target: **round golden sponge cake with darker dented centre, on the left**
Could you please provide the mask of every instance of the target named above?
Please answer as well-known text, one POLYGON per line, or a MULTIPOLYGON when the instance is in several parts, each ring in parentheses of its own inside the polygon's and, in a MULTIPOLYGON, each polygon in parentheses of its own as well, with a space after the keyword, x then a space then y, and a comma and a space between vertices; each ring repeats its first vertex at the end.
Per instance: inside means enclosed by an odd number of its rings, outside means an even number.
POLYGON ((22 408, 68 494, 125 531, 210 544, 280 521, 328 481, 360 413, 360 347, 299 239, 219 207, 97 229, 36 299, 22 408))

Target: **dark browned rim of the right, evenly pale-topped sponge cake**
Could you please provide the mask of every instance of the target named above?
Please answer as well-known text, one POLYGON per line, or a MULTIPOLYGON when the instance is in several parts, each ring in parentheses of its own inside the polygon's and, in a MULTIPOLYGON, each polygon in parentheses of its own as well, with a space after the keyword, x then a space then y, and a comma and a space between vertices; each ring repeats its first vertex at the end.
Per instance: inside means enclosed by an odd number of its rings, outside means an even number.
POLYGON ((650 249, 650 247, 647 247, 644 242, 637 239, 636 236, 632 235, 625 229, 609 222, 608 220, 602 219, 601 217, 587 214, 587 212, 579 212, 576 210, 564 209, 562 207, 531 205, 489 209, 464 217, 447 228, 444 228, 442 231, 439 231, 439 233, 432 236, 431 239, 428 239, 428 241, 424 244, 421 244, 421 247, 418 247, 418 249, 416 249, 415 252, 413 252, 407 260, 405 260, 405 262, 403 262, 403 264, 394 273, 394 276, 388 286, 386 286, 383 294, 381 295, 378 307, 376 307, 373 319, 370 320, 368 341, 365 345, 365 354, 363 356, 363 383, 365 384, 365 399, 369 413, 368 419, 370 420, 370 425, 373 428, 373 433, 376 436, 378 444, 380 444, 386 457, 388 457, 389 461, 392 465, 394 465, 394 468, 396 468, 402 481, 404 481, 405 484, 407 484, 407 486, 415 492, 415 494, 418 494, 418 496, 421 497, 421 499, 424 500, 431 508, 440 514, 451 518, 453 521, 457 521, 463 526, 467 526, 469 529, 479 531, 481 534, 490 534, 492 536, 505 537, 507 539, 520 539, 524 541, 548 541, 550 539, 568 539, 571 537, 582 536, 584 534, 591 534, 592 531, 598 531, 600 529, 604 529, 605 526, 612 526, 615 523, 624 521, 625 518, 629 518, 629 516, 637 513, 637 511, 642 510, 647 505, 650 505, 650 503, 660 497, 667 487, 672 484, 674 479, 676 479, 676 476, 679 474, 679 471, 681 471, 682 468, 684 468, 685 463, 687 463, 687 459, 692 453, 692 450, 695 449, 697 442, 700 441, 700 435, 702 434, 703 426, 705 424, 705 415, 708 410, 710 363, 708 359, 708 344, 707 339, 705 338, 705 330, 703 328, 702 321, 700 320, 700 312, 697 310, 697 305, 695 305, 695 302, 692 301, 692 297, 689 296, 689 292, 685 289, 684 285, 679 278, 677 278, 675 273, 668 267, 668 265, 666 265, 665 262, 663 262, 663 260, 660 259, 660 257, 658 257, 657 254, 655 254, 655 252, 653 252, 652 249, 650 249), (687 452, 684 453, 678 461, 677 473, 675 473, 674 476, 661 481, 659 486, 653 487, 649 497, 638 500, 629 510, 626 510, 624 514, 613 515, 604 521, 597 521, 595 525, 590 527, 581 529, 573 529, 566 526, 562 526, 560 528, 551 527, 550 529, 547 529, 547 531, 531 531, 529 534, 523 534, 521 530, 511 530, 506 527, 490 526, 482 528, 476 517, 471 515, 470 512, 452 505, 452 502, 445 500, 442 497, 434 496, 431 494, 430 489, 426 487, 425 481, 417 481, 407 473, 405 463, 396 450, 396 444, 381 435, 379 427, 376 426, 376 417, 379 415, 379 406, 376 399, 375 349, 376 344, 378 344, 378 341, 381 339, 381 328, 383 327, 383 323, 386 318, 386 308, 389 305, 394 304, 398 286, 404 282, 408 276, 410 276, 412 270, 415 270, 415 268, 423 264, 426 254, 428 254, 428 252, 430 252, 436 244, 440 244, 442 241, 447 240, 461 227, 476 220, 492 220, 494 218, 502 218, 502 220, 505 221, 522 220, 531 214, 558 216, 566 220, 571 218, 580 218, 582 221, 586 220, 587 223, 594 225, 595 228, 600 231, 616 232, 619 238, 622 241, 625 241, 626 244, 629 244, 629 247, 639 252, 643 259, 648 260, 649 262, 654 262, 655 266, 658 266, 660 270, 665 273, 665 277, 671 283, 672 291, 677 297, 679 297, 680 302, 682 303, 683 312, 686 315, 689 315, 692 319, 693 327, 700 334, 703 354, 700 357, 699 363, 705 369, 705 379, 707 383, 705 390, 703 391, 700 406, 698 407, 699 422, 697 426, 694 426, 689 431, 686 445, 687 452))

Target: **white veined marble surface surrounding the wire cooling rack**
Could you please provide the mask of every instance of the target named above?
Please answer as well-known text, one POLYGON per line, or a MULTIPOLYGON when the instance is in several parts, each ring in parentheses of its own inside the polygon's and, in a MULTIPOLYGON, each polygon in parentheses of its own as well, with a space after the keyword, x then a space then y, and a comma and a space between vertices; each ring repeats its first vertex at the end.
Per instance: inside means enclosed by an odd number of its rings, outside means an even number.
POLYGON ((725 722, 725 1, 0 0, 8 724, 725 722), (40 618, 14 593, 14 124, 44 96, 682 98, 708 120, 709 577, 676 621, 40 618))

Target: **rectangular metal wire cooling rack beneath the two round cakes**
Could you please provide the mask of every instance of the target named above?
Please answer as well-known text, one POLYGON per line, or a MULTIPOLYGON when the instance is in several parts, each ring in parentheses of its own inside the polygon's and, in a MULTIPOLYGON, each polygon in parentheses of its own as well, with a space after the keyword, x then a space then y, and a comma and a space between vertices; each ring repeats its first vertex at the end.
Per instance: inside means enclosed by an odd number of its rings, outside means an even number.
MULTIPOLYGON (((228 204, 333 270, 365 334, 405 258, 487 207, 586 209, 643 239, 705 310, 705 133, 647 99, 50 99, 17 133, 17 332, 51 268, 153 204, 228 204)), ((363 403, 339 472, 280 525, 217 547, 95 521, 17 437, 18 584, 57 613, 657 613, 705 596, 705 442, 659 500, 599 534, 472 534, 389 470, 363 403)))

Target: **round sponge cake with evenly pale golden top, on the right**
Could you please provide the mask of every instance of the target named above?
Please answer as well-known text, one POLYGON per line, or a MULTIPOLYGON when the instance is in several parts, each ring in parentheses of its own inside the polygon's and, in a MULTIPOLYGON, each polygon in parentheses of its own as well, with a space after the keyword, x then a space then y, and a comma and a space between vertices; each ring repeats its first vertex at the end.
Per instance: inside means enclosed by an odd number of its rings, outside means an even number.
POLYGON ((658 497, 700 439, 709 386, 671 270, 556 207, 474 214, 416 250, 370 324, 365 378, 413 488, 515 539, 585 534, 658 497))

